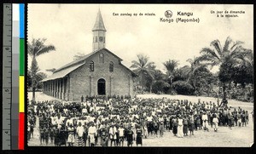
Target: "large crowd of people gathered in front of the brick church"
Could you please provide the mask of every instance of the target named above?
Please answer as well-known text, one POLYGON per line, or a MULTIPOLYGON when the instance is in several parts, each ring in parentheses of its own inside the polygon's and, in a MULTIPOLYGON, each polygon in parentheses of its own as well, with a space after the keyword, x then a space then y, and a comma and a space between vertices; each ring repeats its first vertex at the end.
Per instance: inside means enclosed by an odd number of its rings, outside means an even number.
POLYGON ((56 146, 143 145, 148 136, 162 137, 164 132, 183 138, 200 129, 218 132, 218 126, 246 127, 249 121, 241 107, 220 106, 218 101, 119 96, 32 102, 27 118, 28 140, 38 128, 40 144, 56 146))

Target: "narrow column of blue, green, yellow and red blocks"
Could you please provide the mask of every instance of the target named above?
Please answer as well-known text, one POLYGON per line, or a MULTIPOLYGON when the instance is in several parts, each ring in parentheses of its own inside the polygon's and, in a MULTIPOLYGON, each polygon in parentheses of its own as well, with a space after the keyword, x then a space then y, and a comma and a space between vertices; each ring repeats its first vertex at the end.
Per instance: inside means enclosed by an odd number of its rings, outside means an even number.
POLYGON ((19 77, 19 150, 24 150, 24 134, 25 134, 25 113, 24 113, 24 51, 25 51, 25 29, 24 29, 24 3, 19 4, 20 11, 20 77, 19 77))

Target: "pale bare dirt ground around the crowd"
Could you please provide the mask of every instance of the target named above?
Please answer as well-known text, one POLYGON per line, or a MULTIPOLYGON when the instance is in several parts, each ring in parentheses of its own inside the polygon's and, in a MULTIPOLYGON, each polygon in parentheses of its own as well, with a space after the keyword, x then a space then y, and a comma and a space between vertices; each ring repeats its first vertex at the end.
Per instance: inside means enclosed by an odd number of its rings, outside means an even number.
MULTIPOLYGON (((167 94, 141 94, 137 97, 142 98, 170 98, 178 100, 189 100, 197 102, 198 99, 201 101, 214 101, 217 99, 210 97, 196 97, 196 96, 185 96, 185 95, 167 95, 167 94)), ((31 100, 32 93, 28 93, 28 99, 31 100)), ((53 97, 45 95, 43 93, 36 93, 36 100, 56 100, 53 97)), ((237 100, 229 100, 229 106, 238 107, 251 113, 253 111, 253 103, 241 102, 237 100)), ((253 119, 252 115, 249 115, 249 123, 247 127, 233 127, 230 130, 228 127, 219 127, 218 132, 214 132, 209 126, 209 132, 204 130, 195 131, 195 135, 184 136, 183 138, 177 138, 172 132, 164 132, 163 137, 149 136, 148 139, 143 138, 143 146, 200 146, 200 147, 250 147, 253 145, 253 119)), ((38 135, 38 124, 34 131, 34 138, 28 141, 28 145, 31 146, 45 146, 40 145, 38 135)), ((76 145, 76 144, 75 144, 76 145)), ((48 146, 53 146, 49 144, 48 146)), ((126 146, 126 142, 125 145, 126 146)), ((133 146, 136 146, 133 144, 133 146)))

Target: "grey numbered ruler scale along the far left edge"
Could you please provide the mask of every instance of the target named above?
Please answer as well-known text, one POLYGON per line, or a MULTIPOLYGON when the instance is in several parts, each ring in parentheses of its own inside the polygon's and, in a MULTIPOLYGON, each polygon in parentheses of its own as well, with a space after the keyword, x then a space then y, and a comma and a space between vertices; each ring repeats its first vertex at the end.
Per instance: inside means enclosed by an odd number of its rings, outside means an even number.
MULTIPOLYGON (((3 128, 2 149, 11 150, 12 107, 12 4, 3 4, 3 128)), ((17 111, 18 113, 18 111, 17 111)), ((17 138, 18 139, 18 138, 17 138)))

